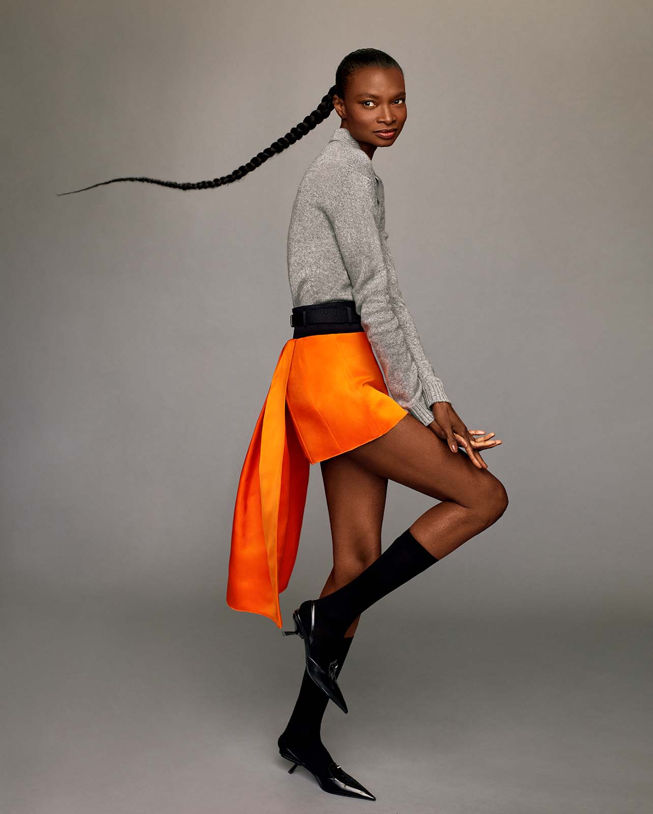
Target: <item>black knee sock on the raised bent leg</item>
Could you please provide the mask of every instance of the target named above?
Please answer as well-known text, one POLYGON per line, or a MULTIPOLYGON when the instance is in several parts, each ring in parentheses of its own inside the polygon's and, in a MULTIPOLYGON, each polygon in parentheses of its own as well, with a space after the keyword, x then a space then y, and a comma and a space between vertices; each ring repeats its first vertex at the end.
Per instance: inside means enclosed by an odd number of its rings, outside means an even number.
POLYGON ((317 599, 316 617, 322 615, 322 624, 328 624, 333 634, 340 635, 363 610, 426 571, 434 562, 438 562, 438 558, 406 529, 365 571, 342 588, 317 599))

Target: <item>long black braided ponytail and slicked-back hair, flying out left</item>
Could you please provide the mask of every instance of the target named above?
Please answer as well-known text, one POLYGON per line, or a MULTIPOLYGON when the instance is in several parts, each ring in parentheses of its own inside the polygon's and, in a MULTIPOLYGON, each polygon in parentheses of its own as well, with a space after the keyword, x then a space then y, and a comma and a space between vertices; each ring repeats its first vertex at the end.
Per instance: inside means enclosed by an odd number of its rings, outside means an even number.
POLYGON ((141 181, 149 184, 159 184, 160 186, 169 186, 173 190, 183 191, 208 190, 213 189, 215 186, 224 186, 225 184, 239 181, 248 173, 251 173, 253 169, 256 169, 256 167, 260 167, 261 164, 265 164, 265 161, 272 158, 273 155, 277 155, 277 153, 280 153, 287 147, 290 147, 291 144, 298 142, 300 138, 303 138, 307 133, 310 133, 310 131, 316 125, 319 125, 322 121, 324 121, 334 109, 334 95, 344 99, 344 92, 347 89, 349 77, 352 76, 353 72, 355 72, 358 68, 367 68, 370 66, 374 66, 375 68, 399 68, 401 71, 401 66, 399 63, 397 63, 395 59, 392 59, 390 55, 386 54, 385 51, 378 50, 376 48, 359 48, 352 51, 341 60, 338 68, 335 71, 335 85, 331 85, 328 92, 322 96, 318 107, 310 112, 308 116, 305 116, 298 125, 291 127, 291 129, 288 130, 284 136, 281 136, 280 138, 277 138, 276 141, 272 142, 270 147, 265 147, 265 149, 261 150, 260 153, 256 153, 256 155, 254 155, 254 157, 251 158, 247 164, 241 164, 239 168, 234 169, 234 171, 229 173, 229 175, 223 175, 219 178, 213 178, 213 180, 208 181, 181 183, 177 181, 161 181, 159 178, 148 178, 145 176, 112 178, 110 181, 101 181, 98 184, 85 186, 81 190, 58 192, 57 195, 72 195, 75 192, 92 190, 95 186, 112 184, 117 181, 141 181))

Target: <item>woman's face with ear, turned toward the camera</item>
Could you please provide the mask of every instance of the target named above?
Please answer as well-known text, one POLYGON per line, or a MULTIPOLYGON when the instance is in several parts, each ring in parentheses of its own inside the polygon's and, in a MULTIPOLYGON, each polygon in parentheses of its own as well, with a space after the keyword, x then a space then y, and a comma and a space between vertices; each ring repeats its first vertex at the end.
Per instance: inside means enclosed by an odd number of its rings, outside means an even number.
POLYGON ((370 155, 397 141, 406 120, 405 83, 399 68, 359 68, 349 77, 344 99, 334 96, 344 126, 370 155), (392 130, 388 136, 379 133, 392 130))

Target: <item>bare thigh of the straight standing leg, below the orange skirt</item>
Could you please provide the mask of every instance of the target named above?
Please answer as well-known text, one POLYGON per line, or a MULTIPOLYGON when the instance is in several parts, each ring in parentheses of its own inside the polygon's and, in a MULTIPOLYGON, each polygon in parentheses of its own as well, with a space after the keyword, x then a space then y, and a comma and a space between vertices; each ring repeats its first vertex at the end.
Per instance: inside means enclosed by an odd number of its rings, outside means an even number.
MULTIPOLYGON (((346 455, 320 462, 338 576, 355 575, 381 554, 388 479, 346 455)), ((352 577, 353 578, 353 577, 352 577)))

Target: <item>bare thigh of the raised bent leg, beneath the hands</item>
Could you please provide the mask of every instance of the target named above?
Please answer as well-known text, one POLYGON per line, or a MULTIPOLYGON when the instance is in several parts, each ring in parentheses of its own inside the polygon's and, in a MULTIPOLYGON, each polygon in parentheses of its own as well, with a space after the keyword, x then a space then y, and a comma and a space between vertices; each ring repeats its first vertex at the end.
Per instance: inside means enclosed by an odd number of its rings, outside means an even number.
POLYGON ((503 484, 489 470, 478 469, 461 449, 453 453, 445 440, 410 413, 384 435, 343 457, 373 475, 468 508, 505 495, 503 484))

